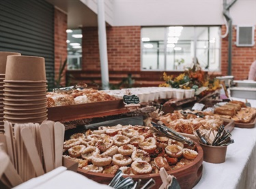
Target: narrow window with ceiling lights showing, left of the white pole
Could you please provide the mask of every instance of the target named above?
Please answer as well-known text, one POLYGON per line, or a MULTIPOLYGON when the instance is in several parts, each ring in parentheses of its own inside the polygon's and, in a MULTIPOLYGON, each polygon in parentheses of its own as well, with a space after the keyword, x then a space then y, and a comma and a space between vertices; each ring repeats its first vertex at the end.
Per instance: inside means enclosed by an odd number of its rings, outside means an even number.
POLYGON ((68 33, 68 69, 82 69, 82 31, 67 30, 68 33))

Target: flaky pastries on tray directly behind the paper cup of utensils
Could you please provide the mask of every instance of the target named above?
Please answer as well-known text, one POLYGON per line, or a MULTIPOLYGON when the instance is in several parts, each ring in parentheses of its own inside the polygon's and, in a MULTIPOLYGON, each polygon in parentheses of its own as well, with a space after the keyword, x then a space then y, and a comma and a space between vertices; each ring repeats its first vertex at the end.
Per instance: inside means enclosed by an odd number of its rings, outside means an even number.
POLYGON ((197 129, 218 131, 221 124, 225 125, 225 130, 233 131, 234 122, 214 115, 210 111, 190 111, 176 110, 157 118, 162 124, 173 129, 177 133, 198 141, 194 135, 197 129))

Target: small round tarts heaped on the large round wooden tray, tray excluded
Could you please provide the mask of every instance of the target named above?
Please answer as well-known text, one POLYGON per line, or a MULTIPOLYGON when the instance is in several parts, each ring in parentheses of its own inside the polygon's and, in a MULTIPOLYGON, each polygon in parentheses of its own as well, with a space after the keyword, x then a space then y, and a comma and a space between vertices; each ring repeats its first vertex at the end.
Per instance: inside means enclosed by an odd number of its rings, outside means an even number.
POLYGON ((197 157, 196 151, 195 153, 191 152, 192 155, 189 156, 186 153, 190 152, 189 149, 183 150, 184 144, 167 137, 160 137, 145 126, 100 126, 97 131, 86 131, 85 135, 83 133, 75 134, 72 137, 76 139, 65 141, 68 146, 64 149, 66 150, 64 154, 72 159, 70 156, 74 155, 71 154, 71 150, 78 149, 76 154, 80 155, 77 155, 75 160, 87 160, 83 167, 87 171, 115 174, 120 167, 127 175, 158 173, 161 167, 165 167, 167 170, 177 169, 180 158, 187 157, 189 161, 186 163, 188 164, 192 162, 190 159, 197 157), (111 132, 109 135, 97 132, 102 130, 111 130, 111 132), (127 137, 128 133, 134 133, 135 136, 129 138, 127 137), (73 146, 71 145, 72 141, 83 141, 83 146, 87 147, 79 150, 82 145, 73 146), (191 158, 191 156, 193 157, 191 158))

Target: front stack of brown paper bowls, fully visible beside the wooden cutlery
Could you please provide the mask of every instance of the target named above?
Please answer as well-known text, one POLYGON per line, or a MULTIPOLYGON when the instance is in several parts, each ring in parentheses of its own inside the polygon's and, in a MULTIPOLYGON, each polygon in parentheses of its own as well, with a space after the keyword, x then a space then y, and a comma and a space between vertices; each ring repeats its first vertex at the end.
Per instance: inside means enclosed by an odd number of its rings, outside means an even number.
POLYGON ((12 123, 47 120, 44 58, 8 56, 3 88, 3 118, 12 123))

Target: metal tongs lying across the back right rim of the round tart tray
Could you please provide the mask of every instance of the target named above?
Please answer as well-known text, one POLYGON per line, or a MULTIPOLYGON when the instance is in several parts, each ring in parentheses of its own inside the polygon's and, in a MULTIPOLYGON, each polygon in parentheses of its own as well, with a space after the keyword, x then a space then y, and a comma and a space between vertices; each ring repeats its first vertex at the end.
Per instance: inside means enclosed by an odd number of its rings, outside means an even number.
POLYGON ((162 124, 158 124, 155 122, 151 122, 151 124, 153 126, 152 130, 160 135, 164 135, 165 137, 174 139, 176 141, 186 142, 188 143, 188 145, 194 144, 193 141, 173 131, 171 128, 168 128, 167 126, 163 126, 162 124))

